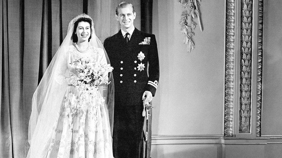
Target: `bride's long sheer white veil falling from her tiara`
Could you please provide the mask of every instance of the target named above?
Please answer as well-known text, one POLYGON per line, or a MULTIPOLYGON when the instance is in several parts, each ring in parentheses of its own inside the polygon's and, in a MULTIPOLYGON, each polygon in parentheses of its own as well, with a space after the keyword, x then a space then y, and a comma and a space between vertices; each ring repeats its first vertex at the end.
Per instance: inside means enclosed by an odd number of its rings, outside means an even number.
MULTIPOLYGON (((56 71, 60 71, 62 66, 67 65, 67 51, 70 45, 73 45, 72 33, 74 23, 79 18, 90 18, 86 14, 81 14, 75 17, 68 24, 67 35, 61 46, 54 55, 51 63, 45 71, 36 91, 32 98, 32 111, 29 119, 28 141, 30 148, 27 157, 42 157, 48 151, 46 144, 50 141, 53 125, 57 119, 58 111, 64 97, 67 83, 58 81, 56 71)), ((91 19, 91 18, 90 18, 91 19)), ((97 38, 93 20, 91 26, 91 39, 89 41, 91 46, 98 47, 104 50, 105 58, 110 63, 107 53, 101 41, 97 38)), ((64 76, 69 77, 68 71, 62 72, 64 76)), ((111 83, 109 85, 102 85, 99 91, 105 99, 105 105, 108 112, 108 119, 110 120, 110 129, 113 130, 113 115, 114 115, 114 80, 112 73, 109 73, 111 83)), ((112 133, 112 132, 111 132, 112 133)), ((110 136, 111 138, 111 136, 110 136)))

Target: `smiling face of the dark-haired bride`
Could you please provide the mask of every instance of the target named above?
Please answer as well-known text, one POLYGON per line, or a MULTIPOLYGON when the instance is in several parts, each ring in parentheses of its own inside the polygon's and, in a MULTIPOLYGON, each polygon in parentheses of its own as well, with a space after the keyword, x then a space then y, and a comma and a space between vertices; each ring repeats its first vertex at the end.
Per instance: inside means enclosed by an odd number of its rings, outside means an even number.
POLYGON ((90 35, 91 35, 91 28, 90 24, 85 21, 81 21, 78 23, 76 28, 76 35, 77 35, 77 43, 81 43, 84 41, 88 41, 90 35))

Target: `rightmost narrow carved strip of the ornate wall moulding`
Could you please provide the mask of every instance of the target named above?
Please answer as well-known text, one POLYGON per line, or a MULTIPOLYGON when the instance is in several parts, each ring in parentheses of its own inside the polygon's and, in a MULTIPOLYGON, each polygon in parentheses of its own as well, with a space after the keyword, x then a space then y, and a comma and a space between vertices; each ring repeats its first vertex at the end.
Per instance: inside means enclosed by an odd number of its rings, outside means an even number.
POLYGON ((262 43, 264 22, 264 0, 259 0, 258 7, 258 43, 257 43, 257 126, 256 135, 261 136, 261 98, 262 98, 262 43))

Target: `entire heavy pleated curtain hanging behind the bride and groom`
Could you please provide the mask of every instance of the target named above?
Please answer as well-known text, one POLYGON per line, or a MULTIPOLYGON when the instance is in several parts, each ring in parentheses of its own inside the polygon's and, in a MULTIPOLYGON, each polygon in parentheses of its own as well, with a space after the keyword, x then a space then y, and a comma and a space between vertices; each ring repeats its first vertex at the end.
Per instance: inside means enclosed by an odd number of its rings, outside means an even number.
MULTIPOLYGON (((117 33, 120 0, 0 0, 0 157, 25 157, 31 99, 69 21, 83 12, 104 41, 117 33)), ((129 1, 139 15, 140 1, 129 1), (138 9, 139 8, 139 9, 138 9), (139 11, 139 12, 138 12, 139 11)))

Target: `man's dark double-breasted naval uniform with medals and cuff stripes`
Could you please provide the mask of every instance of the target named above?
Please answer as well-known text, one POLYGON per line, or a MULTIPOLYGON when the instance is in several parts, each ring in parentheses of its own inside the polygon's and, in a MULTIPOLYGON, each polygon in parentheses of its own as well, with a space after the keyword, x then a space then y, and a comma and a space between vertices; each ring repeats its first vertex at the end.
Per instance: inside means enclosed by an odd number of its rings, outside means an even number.
POLYGON ((114 157, 143 157, 142 95, 150 91, 154 96, 159 81, 155 35, 135 28, 126 42, 120 30, 105 39, 104 47, 114 67, 114 157))

